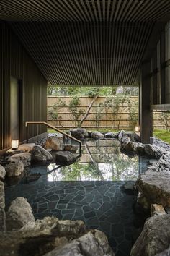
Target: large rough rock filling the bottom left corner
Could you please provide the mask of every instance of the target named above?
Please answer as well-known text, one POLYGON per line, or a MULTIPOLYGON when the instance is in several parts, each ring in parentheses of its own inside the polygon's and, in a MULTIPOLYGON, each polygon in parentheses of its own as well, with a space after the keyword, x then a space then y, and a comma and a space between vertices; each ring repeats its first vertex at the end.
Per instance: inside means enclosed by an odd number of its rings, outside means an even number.
POLYGON ((30 221, 22 229, 0 232, 0 255, 40 256, 84 234, 83 221, 58 221, 55 217, 30 221))

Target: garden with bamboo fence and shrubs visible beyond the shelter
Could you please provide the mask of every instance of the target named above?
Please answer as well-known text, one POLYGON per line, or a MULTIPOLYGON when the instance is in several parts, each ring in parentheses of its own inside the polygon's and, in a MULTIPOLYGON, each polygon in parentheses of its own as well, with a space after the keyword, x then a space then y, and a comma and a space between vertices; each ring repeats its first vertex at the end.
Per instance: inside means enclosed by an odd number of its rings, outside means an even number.
MULTIPOLYGON (((135 131, 140 129, 138 101, 138 87, 48 86, 48 122, 65 130, 135 131)), ((153 112, 153 136, 170 143, 169 131, 169 112, 153 112)))

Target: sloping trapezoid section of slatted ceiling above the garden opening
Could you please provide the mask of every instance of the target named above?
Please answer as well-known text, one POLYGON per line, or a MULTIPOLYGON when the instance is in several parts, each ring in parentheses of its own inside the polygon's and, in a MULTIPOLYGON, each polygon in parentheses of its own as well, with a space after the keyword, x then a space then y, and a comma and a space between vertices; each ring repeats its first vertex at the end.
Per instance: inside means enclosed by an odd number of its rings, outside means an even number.
POLYGON ((131 85, 151 23, 12 23, 45 77, 56 85, 131 85))

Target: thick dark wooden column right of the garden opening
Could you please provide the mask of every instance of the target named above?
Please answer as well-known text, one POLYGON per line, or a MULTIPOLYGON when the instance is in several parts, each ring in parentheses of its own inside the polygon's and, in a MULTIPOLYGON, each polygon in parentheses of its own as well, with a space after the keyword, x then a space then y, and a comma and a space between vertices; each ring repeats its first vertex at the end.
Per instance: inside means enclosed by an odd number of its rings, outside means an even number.
POLYGON ((150 72, 151 62, 148 61, 142 65, 140 74, 140 137, 143 143, 150 143, 150 137, 153 136, 150 72))

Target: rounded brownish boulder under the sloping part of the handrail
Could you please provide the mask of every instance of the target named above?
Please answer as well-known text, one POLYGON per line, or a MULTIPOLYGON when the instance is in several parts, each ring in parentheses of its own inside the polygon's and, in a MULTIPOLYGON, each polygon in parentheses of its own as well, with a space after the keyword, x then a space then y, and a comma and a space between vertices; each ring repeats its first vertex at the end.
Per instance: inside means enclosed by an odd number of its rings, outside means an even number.
POLYGON ((51 136, 45 142, 45 148, 51 148, 55 151, 64 150, 63 140, 60 137, 51 136))

